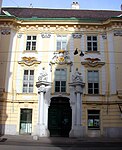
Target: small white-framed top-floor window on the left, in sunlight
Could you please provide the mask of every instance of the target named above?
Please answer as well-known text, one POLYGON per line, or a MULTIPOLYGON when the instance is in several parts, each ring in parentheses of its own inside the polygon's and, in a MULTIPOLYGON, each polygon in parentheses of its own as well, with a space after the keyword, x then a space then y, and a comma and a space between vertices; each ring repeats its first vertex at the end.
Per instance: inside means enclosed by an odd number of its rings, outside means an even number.
POLYGON ((36 50, 36 36, 27 36, 26 50, 36 50))

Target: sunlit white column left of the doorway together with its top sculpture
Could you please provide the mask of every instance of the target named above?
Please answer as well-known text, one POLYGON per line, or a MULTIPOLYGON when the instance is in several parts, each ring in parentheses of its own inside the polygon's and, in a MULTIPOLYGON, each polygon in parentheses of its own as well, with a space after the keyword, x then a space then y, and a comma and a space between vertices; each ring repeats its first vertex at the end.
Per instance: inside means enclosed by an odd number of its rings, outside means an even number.
POLYGON ((47 116, 48 116, 48 99, 46 93, 49 92, 50 82, 47 81, 47 74, 42 72, 36 82, 38 88, 38 122, 35 126, 33 133, 33 139, 38 140, 39 137, 49 137, 49 130, 47 128, 47 116))

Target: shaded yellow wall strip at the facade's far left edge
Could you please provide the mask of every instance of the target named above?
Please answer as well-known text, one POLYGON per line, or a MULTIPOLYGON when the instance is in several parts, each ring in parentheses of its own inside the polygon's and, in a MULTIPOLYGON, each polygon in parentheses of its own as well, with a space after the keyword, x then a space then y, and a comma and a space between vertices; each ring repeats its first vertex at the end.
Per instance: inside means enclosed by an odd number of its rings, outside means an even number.
POLYGON ((0 55, 0 135, 6 134, 6 130, 8 130, 6 120, 8 118, 7 104, 9 103, 8 101, 9 92, 8 92, 8 87, 6 89, 6 84, 7 86, 9 86, 10 84, 9 81, 12 76, 12 72, 10 71, 10 65, 12 63, 11 58, 12 58, 13 38, 11 36, 10 29, 1 30, 0 33, 0 54, 1 54, 0 55))

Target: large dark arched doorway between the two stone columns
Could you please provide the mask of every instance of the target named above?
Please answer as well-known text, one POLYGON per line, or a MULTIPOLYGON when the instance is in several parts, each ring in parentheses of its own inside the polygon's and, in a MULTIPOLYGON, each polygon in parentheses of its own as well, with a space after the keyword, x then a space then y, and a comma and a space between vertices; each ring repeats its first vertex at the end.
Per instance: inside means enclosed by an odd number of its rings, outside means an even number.
POLYGON ((71 130, 72 110, 69 98, 53 97, 48 110, 50 136, 68 137, 71 130))

